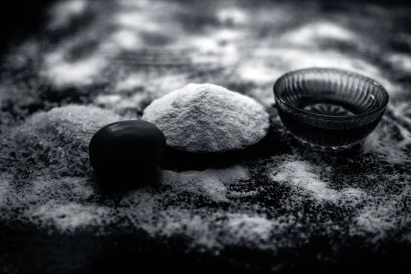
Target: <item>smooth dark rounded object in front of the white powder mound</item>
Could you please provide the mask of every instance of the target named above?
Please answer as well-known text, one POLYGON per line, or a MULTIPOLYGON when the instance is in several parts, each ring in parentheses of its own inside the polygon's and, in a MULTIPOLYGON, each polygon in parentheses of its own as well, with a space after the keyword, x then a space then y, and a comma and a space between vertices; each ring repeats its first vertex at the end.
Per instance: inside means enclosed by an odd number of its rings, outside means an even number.
POLYGON ((147 121, 119 121, 102 127, 88 147, 99 182, 109 188, 129 188, 155 177, 166 147, 158 127, 147 121))

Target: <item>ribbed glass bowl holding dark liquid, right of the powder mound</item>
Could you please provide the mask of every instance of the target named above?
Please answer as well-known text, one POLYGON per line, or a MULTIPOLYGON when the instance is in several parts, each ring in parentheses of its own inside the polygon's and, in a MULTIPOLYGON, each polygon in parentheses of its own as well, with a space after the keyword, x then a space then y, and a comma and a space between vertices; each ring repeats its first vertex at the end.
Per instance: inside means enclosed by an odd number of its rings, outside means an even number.
POLYGON ((347 149, 377 126, 388 93, 373 79, 338 69, 302 69, 273 86, 279 118, 305 145, 347 149))

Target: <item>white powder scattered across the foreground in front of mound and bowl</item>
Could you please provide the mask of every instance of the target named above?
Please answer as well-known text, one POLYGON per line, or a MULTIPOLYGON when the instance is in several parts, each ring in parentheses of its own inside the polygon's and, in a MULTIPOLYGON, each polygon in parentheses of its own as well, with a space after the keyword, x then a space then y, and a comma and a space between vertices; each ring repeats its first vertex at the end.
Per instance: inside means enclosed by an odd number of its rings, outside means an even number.
POLYGON ((129 191, 116 202, 101 200, 94 183, 86 178, 40 176, 11 185, 11 177, 6 175, 2 182, 8 183, 2 186, 7 185, 8 190, 2 193, 8 203, 0 203, 0 212, 5 212, 3 208, 8 211, 1 218, 24 216, 26 221, 64 233, 94 227, 103 233, 110 231, 111 224, 132 226, 153 238, 184 236, 189 239, 189 249, 217 253, 230 245, 275 253, 299 247, 317 232, 323 236, 342 232, 347 237, 371 233, 373 237, 367 239, 375 243, 399 225, 406 227, 406 204, 401 201, 411 197, 409 177, 366 177, 374 186, 367 193, 356 184, 336 190, 328 186, 327 178, 335 171, 329 169, 327 160, 316 158, 315 153, 307 155, 318 162, 314 164, 301 160, 299 153, 258 160, 250 163, 252 170, 232 166, 161 171, 159 186, 129 191), (398 195, 386 195, 386 182, 403 182, 404 188, 398 195), (204 199, 229 203, 229 208, 210 203, 201 206, 204 199), (273 202, 273 206, 264 205, 273 202), (334 209, 326 208, 330 203, 339 212, 338 219, 334 209), (12 214, 13 208, 24 208, 24 214, 12 214))

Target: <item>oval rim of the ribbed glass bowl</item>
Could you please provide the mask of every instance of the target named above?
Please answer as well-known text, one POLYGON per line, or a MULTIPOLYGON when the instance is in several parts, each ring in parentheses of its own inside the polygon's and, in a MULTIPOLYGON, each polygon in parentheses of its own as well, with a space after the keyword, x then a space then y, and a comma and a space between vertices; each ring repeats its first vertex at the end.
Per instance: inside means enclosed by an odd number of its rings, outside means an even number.
POLYGON ((279 101, 284 103, 284 105, 287 105, 288 108, 292 108, 292 110, 296 110, 298 112, 302 112, 302 113, 307 114, 309 116, 316 116, 316 117, 319 117, 319 118, 332 118, 332 119, 361 118, 361 117, 369 116, 371 114, 379 112, 380 110, 384 110, 384 108, 386 108, 386 106, 388 104, 388 101, 389 101, 389 95, 388 95, 388 92, 386 91, 386 89, 382 86, 382 84, 379 84, 374 79, 371 79, 371 78, 366 77, 364 75, 361 75, 359 73, 354 73, 352 71, 345 71, 343 69, 334 69, 334 68, 314 67, 314 68, 297 69, 297 70, 294 70, 294 71, 288 71, 288 73, 284 73, 283 75, 281 75, 280 77, 277 78, 277 80, 275 81, 275 83, 273 85, 273 92, 274 92, 275 100, 278 99, 279 101), (350 116, 336 116, 336 115, 327 115, 327 114, 317 114, 317 113, 314 113, 314 112, 309 112, 308 110, 303 110, 301 108, 297 108, 295 105, 291 105, 290 103, 285 101, 282 97, 279 97, 279 95, 277 94, 277 87, 278 87, 279 83, 284 78, 286 78, 290 75, 294 75, 294 74, 297 74, 297 73, 304 72, 304 71, 333 71, 335 73, 346 73, 346 74, 349 74, 349 75, 360 77, 362 79, 365 79, 366 81, 371 82, 373 85, 377 86, 377 88, 379 88, 379 90, 382 92, 382 95, 384 97, 384 101, 382 101, 382 105, 380 105, 378 108, 370 110, 369 112, 365 112, 365 113, 361 113, 361 114, 354 114, 354 115, 350 115, 350 116))

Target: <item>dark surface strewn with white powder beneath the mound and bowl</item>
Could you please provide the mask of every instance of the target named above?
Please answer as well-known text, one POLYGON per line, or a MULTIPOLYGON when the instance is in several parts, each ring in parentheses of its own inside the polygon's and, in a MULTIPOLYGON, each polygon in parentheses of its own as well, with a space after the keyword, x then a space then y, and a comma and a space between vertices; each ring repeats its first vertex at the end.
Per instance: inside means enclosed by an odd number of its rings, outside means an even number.
MULTIPOLYGON (((148 266, 347 273, 409 264, 406 5, 76 0, 44 12, 45 25, 3 54, 0 271, 144 272, 148 266), (363 144, 320 153, 285 131, 272 85, 283 73, 310 66, 355 71, 386 88, 386 114, 363 144), (260 101, 271 114, 269 134, 232 155, 166 151, 156 184, 116 195, 101 192, 90 173, 74 173, 90 167, 70 151, 47 147, 53 143, 40 147, 53 160, 81 166, 63 170, 63 177, 49 164, 40 172, 32 162, 36 149, 23 160, 10 149, 16 140, 24 145, 13 134, 33 134, 35 124, 26 125, 36 112, 91 104, 110 110, 108 119, 112 112, 138 119, 153 99, 190 82, 260 101)), ((82 111, 63 128, 58 117, 34 132, 66 140, 62 130, 72 125, 86 140, 90 118, 79 123, 82 111)))

